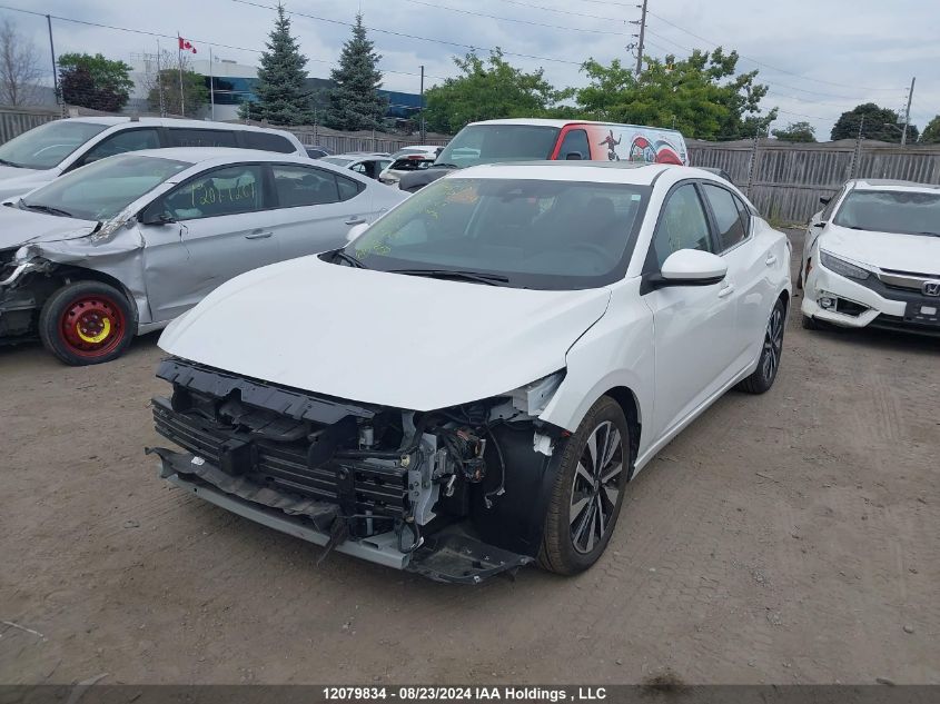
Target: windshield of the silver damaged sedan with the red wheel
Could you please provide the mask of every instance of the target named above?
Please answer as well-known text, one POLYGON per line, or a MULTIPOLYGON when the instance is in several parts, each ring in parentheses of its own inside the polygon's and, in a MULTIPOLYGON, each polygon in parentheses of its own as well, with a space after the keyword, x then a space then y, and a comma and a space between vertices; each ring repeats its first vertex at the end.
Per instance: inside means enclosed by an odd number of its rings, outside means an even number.
POLYGON ((132 153, 109 157, 31 192, 20 207, 81 220, 108 220, 190 166, 132 153))

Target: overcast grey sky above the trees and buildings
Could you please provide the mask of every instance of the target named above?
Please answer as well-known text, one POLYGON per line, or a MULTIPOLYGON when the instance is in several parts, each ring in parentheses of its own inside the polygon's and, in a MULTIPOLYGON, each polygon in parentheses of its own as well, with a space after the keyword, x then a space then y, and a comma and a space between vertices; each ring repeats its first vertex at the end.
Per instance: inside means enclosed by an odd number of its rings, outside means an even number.
MULTIPOLYGON (((276 0, 0 0, 2 4, 61 18, 191 38, 200 52, 254 65, 276 0), (237 48, 222 48, 228 44, 237 48)), ((385 87, 418 91, 424 63, 426 85, 452 76, 452 57, 459 44, 486 50, 502 47, 516 66, 542 67, 556 87, 581 86, 578 65, 588 57, 607 62, 633 59, 626 46, 636 26, 641 0, 288 0, 293 29, 310 59, 311 76, 328 77, 362 8, 370 38, 383 54, 385 87), (532 7, 537 6, 537 7, 532 7), (541 8, 541 9, 538 9, 541 8), (459 12, 457 10, 463 10, 459 12), (489 14, 478 17, 477 14, 489 14), (512 21, 516 20, 516 21, 512 21), (399 32, 437 41, 425 41, 399 32), (442 43, 453 42, 453 43, 442 43), (456 44, 456 46, 455 46, 456 44), (397 72, 395 72, 397 71, 397 72)), ((650 0, 646 53, 685 56, 689 49, 721 44, 742 56, 740 70, 759 69, 770 86, 763 106, 779 107, 776 126, 809 120, 820 139, 828 139, 839 115, 873 101, 899 110, 911 77, 917 86, 911 121, 919 128, 940 112, 940 1, 938 0, 650 0), (772 67, 772 68, 771 68, 772 67)), ((44 18, 0 9, 11 17, 48 56, 44 18)), ((101 51, 130 60, 152 52, 156 38, 53 19, 56 50, 101 51)), ((166 46, 168 42, 164 42, 166 46)), ((50 69, 51 77, 51 69, 50 69)))

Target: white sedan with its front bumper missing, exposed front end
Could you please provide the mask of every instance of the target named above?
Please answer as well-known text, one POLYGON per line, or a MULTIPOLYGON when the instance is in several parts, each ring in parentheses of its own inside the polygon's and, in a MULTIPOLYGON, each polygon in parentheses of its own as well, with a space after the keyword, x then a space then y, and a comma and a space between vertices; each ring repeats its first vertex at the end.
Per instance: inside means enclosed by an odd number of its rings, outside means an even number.
POLYGON ((712 173, 482 166, 360 227, 165 330, 162 477, 436 579, 572 574, 636 472, 778 374, 788 240, 712 173))

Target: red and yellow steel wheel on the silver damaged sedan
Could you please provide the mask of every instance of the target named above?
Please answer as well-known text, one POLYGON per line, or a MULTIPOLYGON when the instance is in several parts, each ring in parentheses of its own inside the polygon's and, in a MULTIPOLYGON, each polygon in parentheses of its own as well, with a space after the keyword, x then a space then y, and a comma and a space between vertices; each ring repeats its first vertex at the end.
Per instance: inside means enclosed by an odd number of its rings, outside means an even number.
POLYGON ((136 327, 127 297, 100 281, 63 286, 49 297, 39 315, 39 336, 46 349, 72 366, 119 357, 136 327))

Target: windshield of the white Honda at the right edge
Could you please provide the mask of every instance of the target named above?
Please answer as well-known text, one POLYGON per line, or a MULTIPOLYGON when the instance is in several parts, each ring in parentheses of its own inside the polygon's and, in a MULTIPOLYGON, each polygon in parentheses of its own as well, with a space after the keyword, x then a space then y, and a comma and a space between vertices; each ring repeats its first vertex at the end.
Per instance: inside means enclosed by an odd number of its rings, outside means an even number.
POLYGON ((853 190, 832 221, 857 230, 940 235, 940 194, 853 190))

